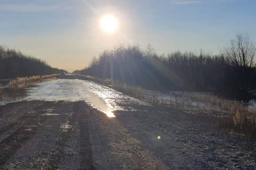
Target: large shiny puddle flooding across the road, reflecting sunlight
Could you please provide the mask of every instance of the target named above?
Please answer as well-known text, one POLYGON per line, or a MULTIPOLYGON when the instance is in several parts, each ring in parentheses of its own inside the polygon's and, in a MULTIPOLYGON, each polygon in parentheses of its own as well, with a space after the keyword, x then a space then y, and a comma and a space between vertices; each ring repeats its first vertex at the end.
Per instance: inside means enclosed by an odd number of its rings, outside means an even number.
POLYGON ((22 100, 84 100, 108 117, 115 117, 114 110, 123 110, 115 102, 118 92, 86 80, 56 79, 24 87, 0 88, 0 105, 22 100))

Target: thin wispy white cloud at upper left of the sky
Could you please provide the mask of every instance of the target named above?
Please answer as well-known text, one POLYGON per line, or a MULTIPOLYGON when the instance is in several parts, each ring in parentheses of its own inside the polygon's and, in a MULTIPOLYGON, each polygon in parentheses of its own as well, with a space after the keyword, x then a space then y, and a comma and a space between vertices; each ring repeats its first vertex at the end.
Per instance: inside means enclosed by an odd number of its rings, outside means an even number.
POLYGON ((52 10, 71 10, 72 7, 61 7, 58 5, 36 5, 36 4, 2 4, 0 6, 0 11, 15 11, 15 12, 46 12, 52 10))

